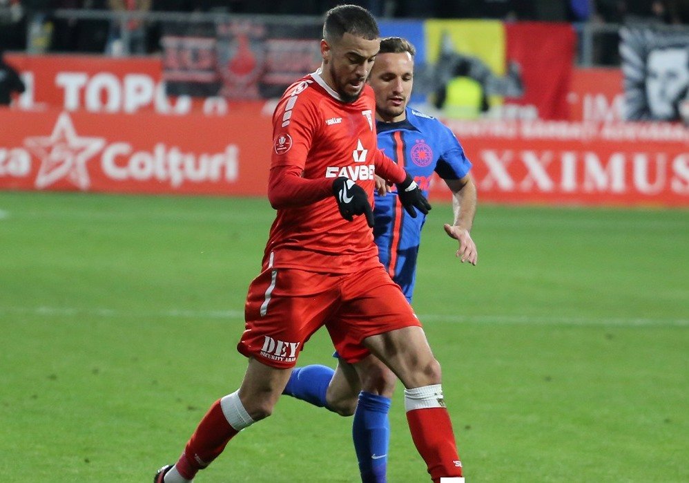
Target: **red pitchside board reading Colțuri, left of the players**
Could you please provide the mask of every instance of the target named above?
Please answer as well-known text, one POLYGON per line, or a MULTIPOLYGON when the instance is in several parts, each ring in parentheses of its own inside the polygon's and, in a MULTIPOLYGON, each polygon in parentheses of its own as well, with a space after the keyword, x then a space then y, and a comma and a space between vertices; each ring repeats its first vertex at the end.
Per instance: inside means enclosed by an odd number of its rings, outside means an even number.
POLYGON ((0 109, 0 189, 261 195, 270 117, 0 109))

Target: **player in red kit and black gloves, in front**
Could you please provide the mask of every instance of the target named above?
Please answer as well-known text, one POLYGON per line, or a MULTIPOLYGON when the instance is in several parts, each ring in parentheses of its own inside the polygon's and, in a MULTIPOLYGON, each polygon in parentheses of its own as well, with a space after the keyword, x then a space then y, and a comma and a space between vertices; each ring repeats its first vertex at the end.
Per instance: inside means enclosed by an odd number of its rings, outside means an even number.
POLYGON ((440 364, 373 242, 374 175, 397 184, 411 216, 430 209, 414 180, 377 149, 365 81, 379 36, 367 10, 329 10, 321 68, 287 88, 275 108, 268 196, 278 214, 237 345, 249 365, 240 388, 215 401, 155 483, 192 481, 240 430, 271 415, 304 343, 324 325, 342 359, 375 354, 402 381, 411 436, 431 480, 463 482, 440 364))

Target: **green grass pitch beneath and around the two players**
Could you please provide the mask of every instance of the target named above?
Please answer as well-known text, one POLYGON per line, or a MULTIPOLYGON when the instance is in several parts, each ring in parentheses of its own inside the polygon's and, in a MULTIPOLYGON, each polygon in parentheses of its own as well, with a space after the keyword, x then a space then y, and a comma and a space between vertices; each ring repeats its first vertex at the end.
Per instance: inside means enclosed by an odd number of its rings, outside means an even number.
MULTIPOLYGON (((689 212, 438 205, 415 309, 467 482, 688 482, 689 212)), ((3 482, 149 482, 237 388, 265 200, 0 193, 3 482)), ((325 332, 300 364, 327 363, 325 332)), ((391 483, 426 482, 391 409, 391 483)), ((351 419, 290 398, 198 482, 358 482, 351 419)))

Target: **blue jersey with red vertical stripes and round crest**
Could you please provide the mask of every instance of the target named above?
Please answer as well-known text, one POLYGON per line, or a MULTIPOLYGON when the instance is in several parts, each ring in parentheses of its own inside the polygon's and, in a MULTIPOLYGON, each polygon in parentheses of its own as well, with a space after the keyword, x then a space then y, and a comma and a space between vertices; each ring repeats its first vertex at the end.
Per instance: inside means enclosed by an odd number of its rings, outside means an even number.
MULTIPOLYGON (((466 176, 472 164, 454 133, 435 117, 409 107, 406 113, 407 119, 400 122, 376 122, 378 148, 405 167, 426 197, 434 171, 445 180, 466 176)), ((417 212, 416 218, 411 218, 396 194, 391 193, 376 194, 373 215, 376 219, 373 236, 380 261, 411 302, 426 216, 417 212)))

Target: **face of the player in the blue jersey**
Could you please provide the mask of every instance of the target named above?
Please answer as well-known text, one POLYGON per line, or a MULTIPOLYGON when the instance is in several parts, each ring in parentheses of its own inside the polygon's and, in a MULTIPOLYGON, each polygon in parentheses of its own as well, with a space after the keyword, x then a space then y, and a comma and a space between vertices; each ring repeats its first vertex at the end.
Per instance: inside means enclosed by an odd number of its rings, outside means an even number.
POLYGON ((404 120, 414 84, 414 59, 408 52, 378 54, 369 84, 376 93, 376 117, 385 122, 404 120))

